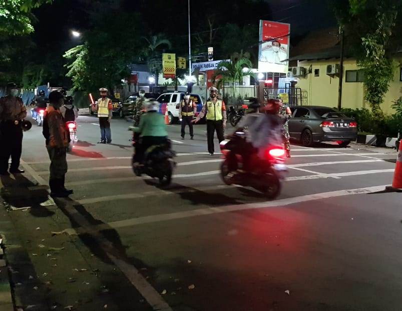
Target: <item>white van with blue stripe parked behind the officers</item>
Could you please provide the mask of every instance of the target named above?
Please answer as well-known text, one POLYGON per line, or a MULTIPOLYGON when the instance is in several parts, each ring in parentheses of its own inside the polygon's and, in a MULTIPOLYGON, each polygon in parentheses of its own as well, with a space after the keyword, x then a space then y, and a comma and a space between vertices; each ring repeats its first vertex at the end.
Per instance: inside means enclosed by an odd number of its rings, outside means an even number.
MULTIPOLYGON (((163 93, 156 99, 161 103, 159 111, 162 114, 165 114, 166 109, 168 110, 169 124, 177 123, 179 120, 179 107, 184 98, 184 93, 181 91, 163 93)), ((190 93, 190 99, 197 105, 197 112, 195 113, 195 116, 197 116, 203 106, 202 99, 198 94, 194 93, 190 93)))

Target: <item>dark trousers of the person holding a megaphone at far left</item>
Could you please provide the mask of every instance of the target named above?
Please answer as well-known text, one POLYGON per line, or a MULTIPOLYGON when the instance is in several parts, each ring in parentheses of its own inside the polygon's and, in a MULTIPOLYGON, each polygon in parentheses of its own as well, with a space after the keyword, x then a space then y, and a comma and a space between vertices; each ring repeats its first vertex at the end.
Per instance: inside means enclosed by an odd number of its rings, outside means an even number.
POLYGON ((0 124, 0 172, 16 170, 20 166, 20 158, 23 149, 23 129, 21 124, 14 121, 2 121, 0 124))

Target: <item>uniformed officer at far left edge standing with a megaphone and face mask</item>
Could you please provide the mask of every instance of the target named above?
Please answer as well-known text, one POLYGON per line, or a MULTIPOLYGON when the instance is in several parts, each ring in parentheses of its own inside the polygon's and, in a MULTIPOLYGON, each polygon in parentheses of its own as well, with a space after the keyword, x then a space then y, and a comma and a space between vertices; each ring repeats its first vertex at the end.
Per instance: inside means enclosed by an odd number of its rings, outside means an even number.
POLYGON ((8 95, 0 98, 0 174, 23 173, 19 169, 23 146, 22 121, 27 116, 21 97, 18 97, 19 87, 16 83, 7 84, 8 95), (10 173, 9 158, 11 156, 10 173))

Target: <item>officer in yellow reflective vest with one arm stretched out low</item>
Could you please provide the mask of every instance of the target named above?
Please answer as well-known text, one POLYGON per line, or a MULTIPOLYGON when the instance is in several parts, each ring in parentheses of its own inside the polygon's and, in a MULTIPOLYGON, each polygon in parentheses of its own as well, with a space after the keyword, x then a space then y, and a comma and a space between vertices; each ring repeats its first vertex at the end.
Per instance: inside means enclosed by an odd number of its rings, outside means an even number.
POLYGON ((195 119, 197 123, 204 115, 207 115, 207 138, 208 152, 214 154, 214 133, 218 136, 219 142, 225 139, 223 129, 226 127, 226 107, 222 99, 217 98, 218 89, 214 86, 209 88, 209 96, 207 102, 202 107, 200 114, 195 119))

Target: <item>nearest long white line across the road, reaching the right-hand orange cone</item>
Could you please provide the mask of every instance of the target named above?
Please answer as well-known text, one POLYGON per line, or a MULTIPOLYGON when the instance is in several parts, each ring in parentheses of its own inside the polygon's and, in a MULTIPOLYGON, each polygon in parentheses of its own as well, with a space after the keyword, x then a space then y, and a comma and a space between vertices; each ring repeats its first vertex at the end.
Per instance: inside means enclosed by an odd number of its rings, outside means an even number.
MULTIPOLYGON (((150 216, 143 216, 125 220, 118 220, 113 221, 105 224, 100 224, 96 226, 97 230, 104 230, 112 228, 122 228, 127 226, 133 226, 138 224, 145 224, 145 223, 153 223, 158 221, 167 221, 167 220, 174 220, 174 219, 182 219, 194 216, 205 216, 211 215, 216 213, 223 213, 223 212, 231 212, 231 211, 238 211, 238 210, 245 210, 245 209, 255 209, 255 208, 268 208, 268 207, 283 207, 290 204, 308 202, 312 200, 319 200, 331 197, 338 197, 344 195, 352 195, 352 194, 364 194, 364 193, 371 193, 376 191, 381 191, 385 189, 386 185, 378 185, 378 186, 371 186, 371 187, 364 187, 364 188, 356 188, 356 189, 345 189, 345 190, 336 190, 336 191, 329 191, 329 192, 321 192, 315 194, 307 194, 289 198, 283 198, 276 201, 266 201, 266 202, 258 202, 258 203, 248 203, 248 204, 236 204, 236 205, 226 205, 220 207, 207 207, 207 208, 199 208, 193 210, 186 210, 186 211, 179 211, 167 214, 159 214, 159 215, 150 215, 150 216)), ((80 230, 80 229, 79 229, 80 230)), ((77 234, 75 229, 67 229, 66 230, 69 234, 77 234)), ((85 233, 82 230, 78 233, 85 233)))

